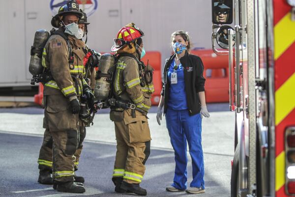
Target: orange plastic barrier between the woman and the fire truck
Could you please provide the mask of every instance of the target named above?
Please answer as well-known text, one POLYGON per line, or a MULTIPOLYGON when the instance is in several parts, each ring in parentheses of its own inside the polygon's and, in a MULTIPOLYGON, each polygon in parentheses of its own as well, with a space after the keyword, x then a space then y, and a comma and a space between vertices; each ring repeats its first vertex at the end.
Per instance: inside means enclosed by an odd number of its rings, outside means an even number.
POLYGON ((217 56, 210 50, 191 51, 204 64, 206 102, 229 101, 229 56, 217 56))

